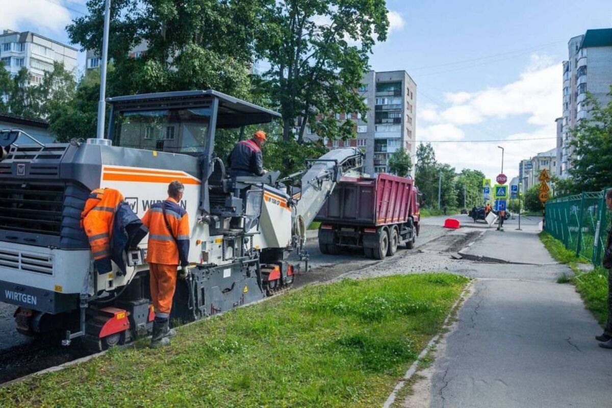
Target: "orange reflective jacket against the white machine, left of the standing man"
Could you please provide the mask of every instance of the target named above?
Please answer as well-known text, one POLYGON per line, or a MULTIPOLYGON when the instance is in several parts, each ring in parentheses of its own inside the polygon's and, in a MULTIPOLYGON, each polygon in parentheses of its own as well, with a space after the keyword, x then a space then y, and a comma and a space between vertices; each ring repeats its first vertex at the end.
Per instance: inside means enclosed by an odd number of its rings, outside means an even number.
POLYGON ((112 270, 111 232, 114 213, 123 200, 123 195, 114 188, 96 188, 81 212, 81 225, 89 238, 94 264, 99 273, 112 270))

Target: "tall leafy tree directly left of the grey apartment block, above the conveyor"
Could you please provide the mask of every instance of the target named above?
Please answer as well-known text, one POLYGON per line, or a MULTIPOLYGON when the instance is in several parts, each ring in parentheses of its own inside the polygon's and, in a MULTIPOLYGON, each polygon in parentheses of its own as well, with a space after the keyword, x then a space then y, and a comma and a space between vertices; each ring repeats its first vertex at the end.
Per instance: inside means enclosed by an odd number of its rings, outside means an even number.
POLYGON ((359 94, 368 54, 384 41, 384 0, 267 1, 255 47, 269 62, 257 86, 283 114, 283 141, 302 143, 306 125, 330 139, 354 136, 354 124, 335 114, 367 108, 359 94))

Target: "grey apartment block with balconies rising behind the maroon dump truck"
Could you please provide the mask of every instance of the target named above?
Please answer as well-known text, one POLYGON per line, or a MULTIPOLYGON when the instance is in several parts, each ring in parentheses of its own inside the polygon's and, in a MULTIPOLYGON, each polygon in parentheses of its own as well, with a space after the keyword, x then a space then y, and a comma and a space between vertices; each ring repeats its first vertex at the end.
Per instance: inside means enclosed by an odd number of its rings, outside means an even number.
MULTIPOLYGON (((370 71, 364 75, 359 92, 368 106, 366 117, 357 113, 337 114, 338 121, 351 119, 357 138, 349 141, 328 140, 330 149, 359 147, 365 152, 364 172, 374 174, 389 171, 389 158, 403 146, 411 155, 414 169, 416 153, 417 86, 404 70, 389 72, 370 71)), ((305 139, 319 136, 306 128, 305 139)))

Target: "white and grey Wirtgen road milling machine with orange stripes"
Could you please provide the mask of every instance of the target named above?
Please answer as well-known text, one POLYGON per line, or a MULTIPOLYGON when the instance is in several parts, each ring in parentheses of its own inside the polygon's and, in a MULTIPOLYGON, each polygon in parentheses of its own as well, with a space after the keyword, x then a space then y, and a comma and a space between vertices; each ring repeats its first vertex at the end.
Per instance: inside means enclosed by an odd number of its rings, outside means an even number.
POLYGON ((361 152, 345 148, 283 180, 231 177, 215 157, 215 130, 280 114, 211 90, 107 102, 106 139, 21 143, 29 137, 21 130, 0 132, 0 302, 18 306, 24 335, 60 333, 64 345, 80 338, 95 350, 151 330, 147 239, 124 251, 125 272, 114 263, 110 273, 95 270, 80 226, 95 188, 119 190, 143 217, 171 181, 184 184, 191 273, 177 284, 171 319, 193 321, 289 287, 300 267, 289 254, 307 262, 306 227, 340 177, 362 165, 361 152))

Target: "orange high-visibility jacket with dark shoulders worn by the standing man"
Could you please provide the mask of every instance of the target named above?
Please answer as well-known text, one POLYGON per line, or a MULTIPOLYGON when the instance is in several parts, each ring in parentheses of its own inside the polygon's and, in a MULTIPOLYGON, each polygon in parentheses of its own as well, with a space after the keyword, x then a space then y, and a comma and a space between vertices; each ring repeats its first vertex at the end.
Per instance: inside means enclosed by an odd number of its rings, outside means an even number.
POLYGON ((153 204, 144 214, 143 224, 149 228, 147 262, 182 266, 188 264, 189 217, 176 200, 168 197, 166 201, 153 204), (163 218, 163 209, 166 220, 163 218))

